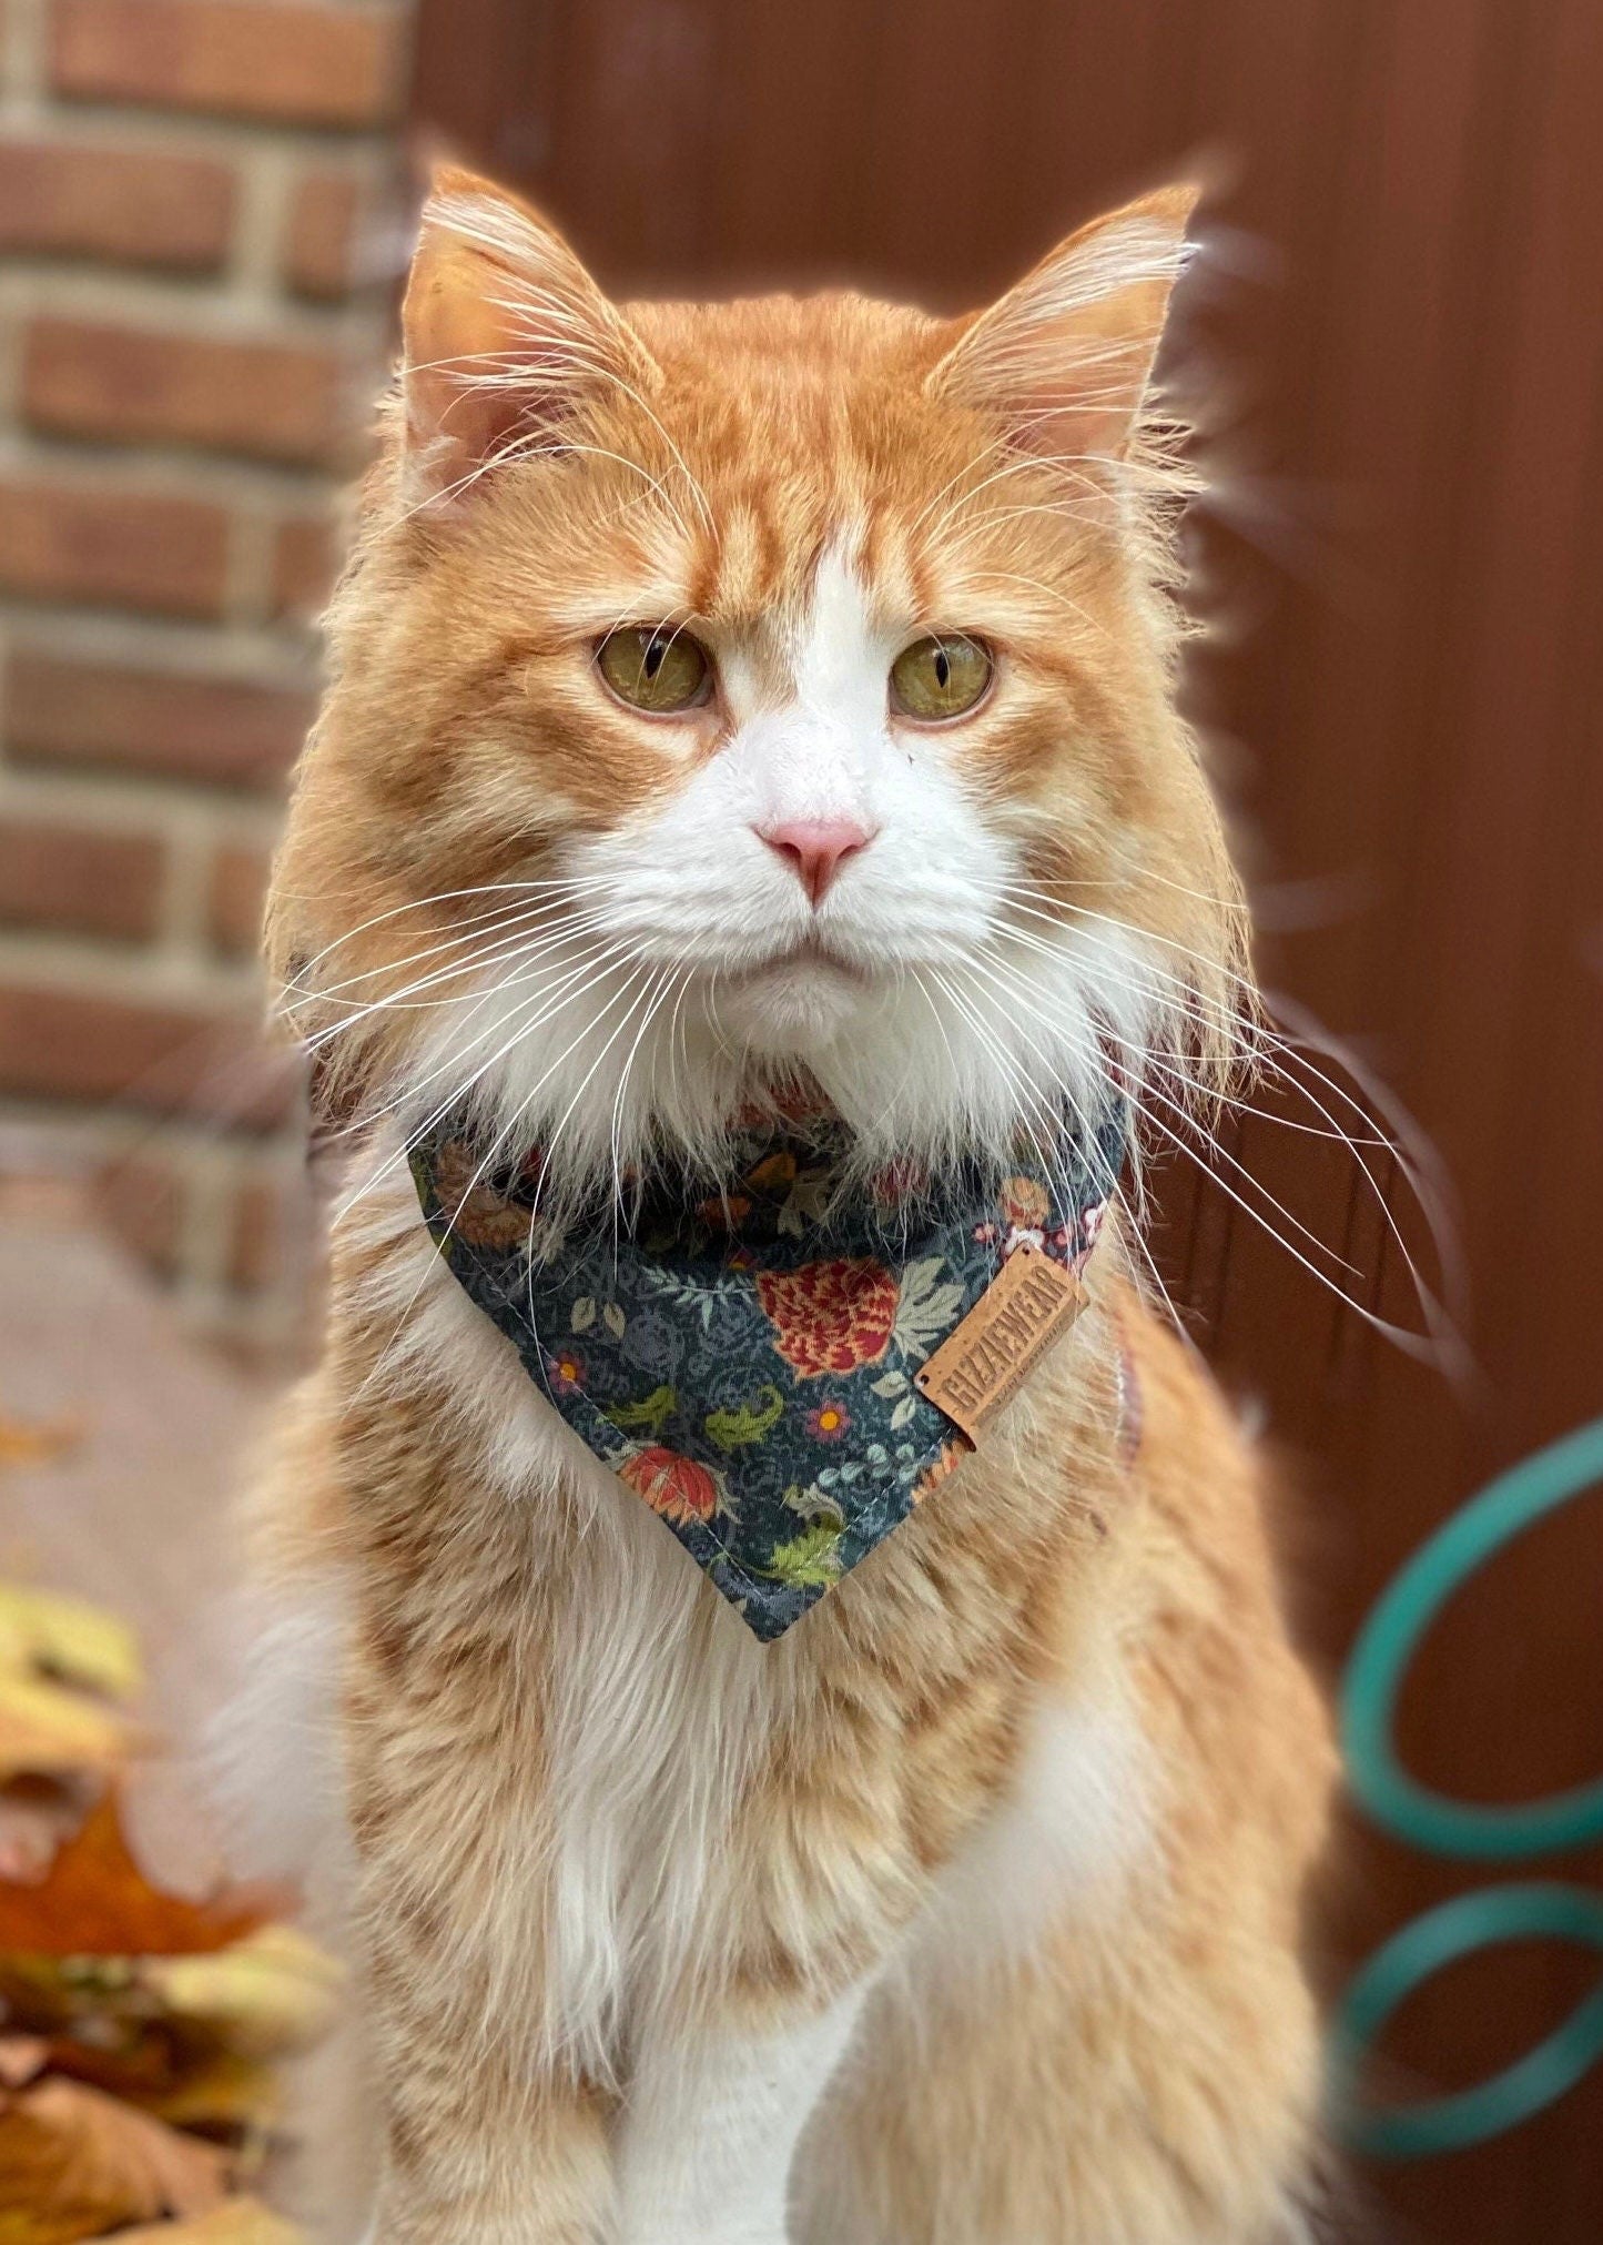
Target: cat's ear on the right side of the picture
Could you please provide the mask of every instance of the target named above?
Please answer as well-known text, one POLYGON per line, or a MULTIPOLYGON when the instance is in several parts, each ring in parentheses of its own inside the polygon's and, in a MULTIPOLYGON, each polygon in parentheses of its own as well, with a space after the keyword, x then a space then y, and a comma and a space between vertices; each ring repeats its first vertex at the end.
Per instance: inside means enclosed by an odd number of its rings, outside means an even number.
POLYGON ((979 312, 927 379, 997 413, 1024 449, 1120 460, 1185 269, 1199 189, 1165 186, 1093 220, 979 312))

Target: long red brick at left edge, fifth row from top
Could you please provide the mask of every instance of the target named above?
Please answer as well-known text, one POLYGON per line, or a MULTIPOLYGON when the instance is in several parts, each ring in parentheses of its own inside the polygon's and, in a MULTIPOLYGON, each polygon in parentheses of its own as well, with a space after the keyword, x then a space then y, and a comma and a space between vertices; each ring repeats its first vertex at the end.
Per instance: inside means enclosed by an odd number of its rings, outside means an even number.
POLYGON ((20 647, 4 689, 18 761, 88 763, 272 786, 294 761, 314 696, 195 671, 123 669, 20 647))

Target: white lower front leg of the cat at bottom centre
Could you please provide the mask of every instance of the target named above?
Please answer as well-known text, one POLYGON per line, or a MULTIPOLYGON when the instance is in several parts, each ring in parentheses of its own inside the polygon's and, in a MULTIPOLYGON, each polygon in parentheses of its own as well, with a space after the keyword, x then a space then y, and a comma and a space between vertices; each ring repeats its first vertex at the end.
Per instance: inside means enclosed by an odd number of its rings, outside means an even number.
POLYGON ((862 1996, 768 2027, 653 2029, 615 2131, 620 2245, 784 2245, 797 2137, 862 1996))

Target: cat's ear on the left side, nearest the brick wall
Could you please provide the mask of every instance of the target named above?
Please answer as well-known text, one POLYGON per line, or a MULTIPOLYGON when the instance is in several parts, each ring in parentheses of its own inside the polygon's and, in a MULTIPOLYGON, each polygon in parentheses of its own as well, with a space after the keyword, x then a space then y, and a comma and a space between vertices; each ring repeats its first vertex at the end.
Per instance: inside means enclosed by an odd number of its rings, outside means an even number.
POLYGON ((449 164, 422 209, 402 337, 420 503, 445 505, 498 458, 559 445, 599 386, 656 384, 644 346, 555 227, 449 164))

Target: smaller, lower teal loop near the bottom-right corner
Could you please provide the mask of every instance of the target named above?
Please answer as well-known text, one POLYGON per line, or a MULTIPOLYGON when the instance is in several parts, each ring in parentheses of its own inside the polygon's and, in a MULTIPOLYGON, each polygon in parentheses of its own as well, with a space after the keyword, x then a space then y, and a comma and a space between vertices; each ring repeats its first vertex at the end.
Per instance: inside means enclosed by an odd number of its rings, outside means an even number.
POLYGON ((1374 2160, 1464 2151, 1518 2128, 1603 2059, 1603 1987, 1585 1996, 1536 2050, 1475 2088, 1428 2104, 1365 2108, 1356 2074, 1405 1996, 1457 1958, 1515 1940, 1569 1940, 1603 1951, 1603 1895, 1529 1881, 1444 1902, 1394 1933, 1349 1985, 1336 2020, 1336 2097, 1343 2135, 1374 2160))

